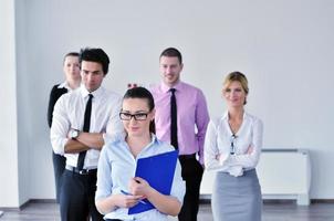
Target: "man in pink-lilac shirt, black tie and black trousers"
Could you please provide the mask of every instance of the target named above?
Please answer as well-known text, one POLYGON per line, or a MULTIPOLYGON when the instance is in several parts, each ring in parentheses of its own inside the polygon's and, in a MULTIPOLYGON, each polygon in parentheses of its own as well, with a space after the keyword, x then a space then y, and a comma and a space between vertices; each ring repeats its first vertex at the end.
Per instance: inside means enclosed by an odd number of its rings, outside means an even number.
POLYGON ((202 92, 180 81, 182 67, 182 56, 177 49, 163 51, 159 67, 163 82, 152 88, 152 94, 156 104, 156 135, 179 150, 186 194, 178 218, 196 221, 209 113, 202 92))

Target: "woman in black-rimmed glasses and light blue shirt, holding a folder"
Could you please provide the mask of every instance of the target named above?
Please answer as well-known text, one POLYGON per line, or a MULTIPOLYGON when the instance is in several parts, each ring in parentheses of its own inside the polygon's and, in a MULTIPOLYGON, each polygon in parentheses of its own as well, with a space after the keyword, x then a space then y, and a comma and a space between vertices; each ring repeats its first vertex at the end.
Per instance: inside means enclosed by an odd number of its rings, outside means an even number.
POLYGON ((154 134, 154 107, 149 91, 144 87, 128 90, 119 113, 126 135, 106 144, 102 149, 95 202, 107 221, 167 221, 168 215, 176 217, 181 209, 186 187, 178 161, 168 196, 158 192, 146 180, 134 177, 138 159, 175 150, 169 144, 158 140, 154 134), (128 214, 128 209, 143 203, 144 198, 155 209, 128 214))

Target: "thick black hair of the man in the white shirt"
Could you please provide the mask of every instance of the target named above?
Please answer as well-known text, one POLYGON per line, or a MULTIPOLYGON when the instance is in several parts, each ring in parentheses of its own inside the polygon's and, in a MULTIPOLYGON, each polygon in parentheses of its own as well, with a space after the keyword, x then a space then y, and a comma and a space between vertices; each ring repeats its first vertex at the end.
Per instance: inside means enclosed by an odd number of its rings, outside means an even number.
POLYGON ((102 65, 104 75, 108 73, 109 57, 102 49, 85 48, 80 50, 80 66, 82 61, 97 62, 102 65))

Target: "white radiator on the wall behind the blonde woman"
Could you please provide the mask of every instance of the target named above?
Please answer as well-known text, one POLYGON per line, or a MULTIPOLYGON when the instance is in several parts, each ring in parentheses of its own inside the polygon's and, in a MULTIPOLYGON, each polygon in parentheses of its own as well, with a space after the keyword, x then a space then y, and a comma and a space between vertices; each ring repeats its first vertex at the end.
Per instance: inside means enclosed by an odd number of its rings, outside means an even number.
MULTIPOLYGON (((311 164, 306 149, 263 149, 257 167, 263 199, 295 199, 310 204, 311 164)), ((215 171, 205 171, 200 194, 210 198, 215 171)))

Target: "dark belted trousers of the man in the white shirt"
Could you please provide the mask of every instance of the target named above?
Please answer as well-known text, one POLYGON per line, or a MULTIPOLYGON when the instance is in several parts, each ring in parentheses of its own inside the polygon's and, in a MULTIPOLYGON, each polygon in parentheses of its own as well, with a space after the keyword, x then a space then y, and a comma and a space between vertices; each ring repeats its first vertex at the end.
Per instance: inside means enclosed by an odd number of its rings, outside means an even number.
POLYGON ((80 175, 65 169, 62 177, 60 208, 62 221, 103 221, 95 207, 96 170, 80 175))

